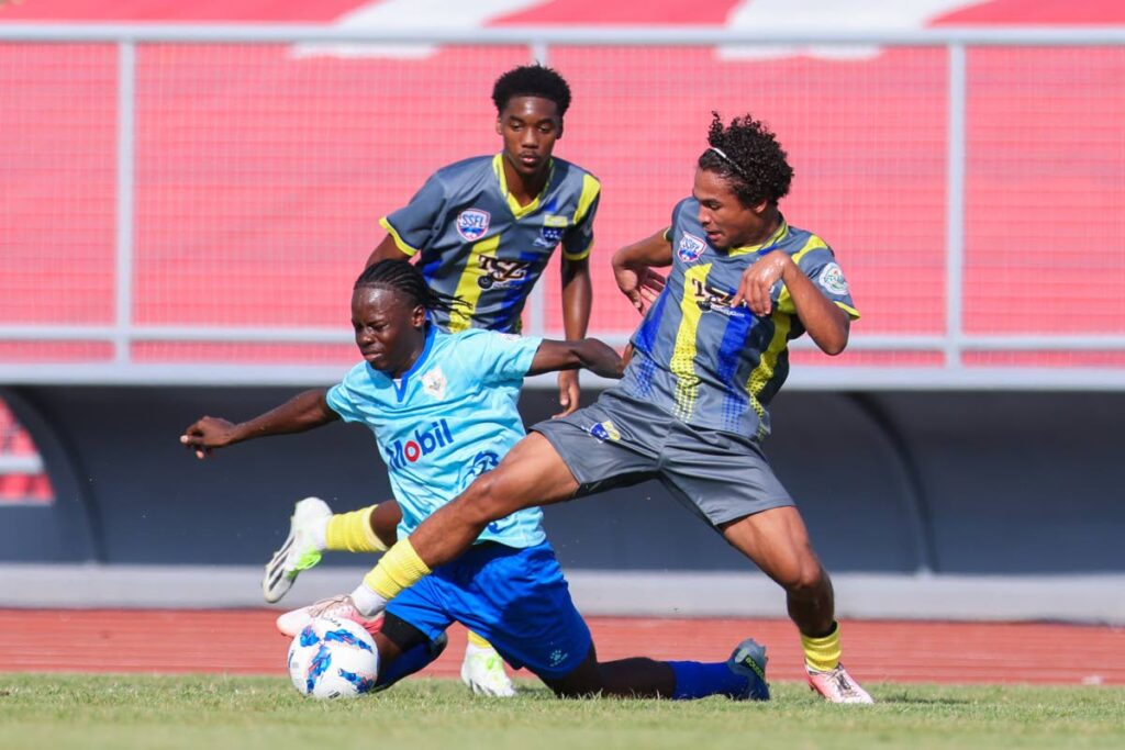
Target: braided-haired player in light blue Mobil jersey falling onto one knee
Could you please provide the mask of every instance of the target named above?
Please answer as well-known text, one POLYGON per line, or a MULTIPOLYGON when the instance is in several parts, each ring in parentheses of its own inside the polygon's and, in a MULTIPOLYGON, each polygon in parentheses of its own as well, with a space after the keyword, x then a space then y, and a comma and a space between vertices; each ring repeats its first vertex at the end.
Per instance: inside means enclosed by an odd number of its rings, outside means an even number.
MULTIPOLYGON (((344 419, 368 426, 387 464, 405 537, 480 477, 523 437, 516 396, 528 374, 585 368, 619 378, 621 358, 600 341, 546 341, 487 331, 449 334, 428 320, 449 298, 429 289, 404 261, 369 266, 352 295, 352 325, 363 355, 327 390, 309 390, 241 424, 204 417, 180 442, 199 458, 254 437, 302 432, 344 419)), ((768 699, 765 649, 740 643, 723 662, 631 658, 600 662, 586 623, 541 526, 525 507, 497 517, 464 554, 399 596, 381 623, 361 617, 349 597, 279 618, 295 634, 316 615, 357 620, 379 650, 378 686, 421 669, 441 652, 446 629, 460 622, 487 638, 514 667, 526 667, 560 696, 726 695, 768 699)), ((309 524, 310 526, 313 524, 309 524)), ((325 518, 332 534, 372 531, 362 512, 325 518), (338 526, 333 530, 331 526, 338 526)))

